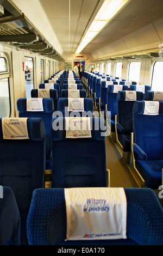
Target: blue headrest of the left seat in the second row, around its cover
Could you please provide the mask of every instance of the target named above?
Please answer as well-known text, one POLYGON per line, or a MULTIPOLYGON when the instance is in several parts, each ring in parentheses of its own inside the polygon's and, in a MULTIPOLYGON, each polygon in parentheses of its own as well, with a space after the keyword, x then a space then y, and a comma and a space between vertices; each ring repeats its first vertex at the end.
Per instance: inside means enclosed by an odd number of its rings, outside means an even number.
MULTIPOLYGON (((24 118, 10 119, 13 123, 19 123, 24 118)), ((42 118, 27 118, 27 131, 28 137, 32 141, 43 141, 46 138, 45 124, 42 118)), ((0 139, 3 139, 2 118, 0 118, 0 139)))

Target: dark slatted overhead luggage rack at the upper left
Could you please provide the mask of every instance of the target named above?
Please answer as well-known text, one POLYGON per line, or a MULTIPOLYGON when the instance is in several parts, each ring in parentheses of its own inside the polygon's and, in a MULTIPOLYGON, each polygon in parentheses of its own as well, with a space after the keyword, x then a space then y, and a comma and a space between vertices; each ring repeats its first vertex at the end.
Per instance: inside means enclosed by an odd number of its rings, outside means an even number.
POLYGON ((30 23, 27 17, 10 4, 3 3, 4 15, 0 17, 0 42, 9 42, 24 50, 64 62, 53 46, 30 23), (5 9, 5 8, 8 8, 5 9))

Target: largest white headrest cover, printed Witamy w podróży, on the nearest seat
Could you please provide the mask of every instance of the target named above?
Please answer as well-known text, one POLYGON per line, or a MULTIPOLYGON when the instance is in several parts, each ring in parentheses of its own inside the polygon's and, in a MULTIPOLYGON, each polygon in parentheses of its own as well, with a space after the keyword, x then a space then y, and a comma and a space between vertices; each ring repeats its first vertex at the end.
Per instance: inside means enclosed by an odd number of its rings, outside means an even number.
POLYGON ((67 240, 126 239, 123 188, 65 188, 67 240))

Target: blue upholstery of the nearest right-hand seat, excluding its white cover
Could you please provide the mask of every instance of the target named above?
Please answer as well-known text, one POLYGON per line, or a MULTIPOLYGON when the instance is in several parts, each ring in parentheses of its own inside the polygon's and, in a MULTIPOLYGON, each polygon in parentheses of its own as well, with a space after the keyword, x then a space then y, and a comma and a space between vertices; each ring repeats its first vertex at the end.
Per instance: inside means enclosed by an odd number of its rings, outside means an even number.
POLYGON ((147 187, 158 189, 163 168, 163 102, 159 102, 159 115, 143 114, 144 101, 133 106, 135 166, 147 187))

